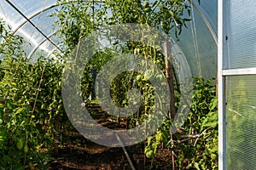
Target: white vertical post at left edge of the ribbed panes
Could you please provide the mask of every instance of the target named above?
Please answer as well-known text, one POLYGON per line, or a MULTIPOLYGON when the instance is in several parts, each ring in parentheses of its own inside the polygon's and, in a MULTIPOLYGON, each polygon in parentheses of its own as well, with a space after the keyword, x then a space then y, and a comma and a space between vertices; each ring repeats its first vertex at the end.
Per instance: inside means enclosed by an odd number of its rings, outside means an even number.
POLYGON ((225 2, 218 0, 218 169, 226 169, 223 57, 225 45, 225 2))

